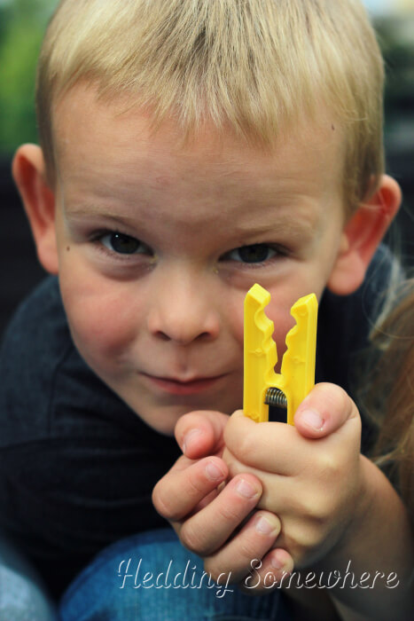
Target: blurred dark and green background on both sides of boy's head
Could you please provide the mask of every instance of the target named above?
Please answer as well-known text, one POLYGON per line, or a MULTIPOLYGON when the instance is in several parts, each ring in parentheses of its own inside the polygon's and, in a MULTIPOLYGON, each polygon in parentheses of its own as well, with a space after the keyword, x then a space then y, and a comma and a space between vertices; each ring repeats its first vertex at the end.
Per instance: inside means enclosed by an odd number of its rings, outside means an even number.
MULTIPOLYGON (((166 0, 168 1, 168 0, 166 0)), ((340 0, 332 0, 332 2, 340 0)), ((402 261, 414 265, 414 0, 364 0, 387 65, 387 172, 403 192, 398 232, 402 261)), ((35 64, 57 0, 0 0, 0 335, 20 300, 43 278, 12 184, 12 154, 36 142, 35 64)))

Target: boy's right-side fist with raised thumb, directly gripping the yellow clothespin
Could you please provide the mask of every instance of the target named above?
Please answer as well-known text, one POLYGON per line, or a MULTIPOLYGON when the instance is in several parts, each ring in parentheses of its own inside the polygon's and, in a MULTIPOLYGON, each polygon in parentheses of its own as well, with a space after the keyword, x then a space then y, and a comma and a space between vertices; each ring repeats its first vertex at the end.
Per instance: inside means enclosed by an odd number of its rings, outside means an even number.
POLYGON ((262 483, 258 508, 279 517, 277 546, 295 566, 317 562, 364 510, 361 420, 347 393, 318 384, 294 417, 295 427, 234 413, 224 429, 230 476, 262 483))

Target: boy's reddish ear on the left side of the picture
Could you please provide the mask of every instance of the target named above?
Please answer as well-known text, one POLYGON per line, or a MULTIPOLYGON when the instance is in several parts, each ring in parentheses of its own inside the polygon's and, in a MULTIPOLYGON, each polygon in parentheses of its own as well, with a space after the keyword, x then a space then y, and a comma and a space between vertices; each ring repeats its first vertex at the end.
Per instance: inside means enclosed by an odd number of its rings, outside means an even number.
POLYGON ((22 145, 14 155, 12 175, 35 238, 37 255, 43 268, 58 273, 55 235, 55 196, 46 182, 40 146, 22 145))

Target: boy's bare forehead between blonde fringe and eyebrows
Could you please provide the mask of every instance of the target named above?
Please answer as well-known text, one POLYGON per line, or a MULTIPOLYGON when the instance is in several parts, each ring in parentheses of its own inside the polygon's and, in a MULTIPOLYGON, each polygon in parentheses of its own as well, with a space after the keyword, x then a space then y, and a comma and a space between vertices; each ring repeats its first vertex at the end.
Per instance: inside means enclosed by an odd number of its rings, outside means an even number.
POLYGON ((189 142, 173 121, 152 130, 149 114, 129 101, 99 100, 94 90, 77 85, 55 106, 54 142, 59 174, 68 182, 105 185, 117 177, 119 192, 146 179, 152 193, 184 190, 211 195, 250 194, 254 199, 318 186, 339 192, 342 183, 342 132, 334 119, 281 131, 271 149, 247 145, 234 132, 199 128, 189 142), (256 196, 257 198, 257 196, 256 196))

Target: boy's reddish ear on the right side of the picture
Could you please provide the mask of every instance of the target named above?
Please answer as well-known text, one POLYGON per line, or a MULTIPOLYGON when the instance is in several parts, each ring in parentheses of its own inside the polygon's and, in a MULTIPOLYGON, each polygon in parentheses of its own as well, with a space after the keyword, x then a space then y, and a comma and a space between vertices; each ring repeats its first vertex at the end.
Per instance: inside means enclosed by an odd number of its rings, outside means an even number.
POLYGON ((400 186, 392 177, 383 175, 376 192, 361 203, 345 224, 340 252, 327 283, 332 293, 348 295, 363 284, 371 258, 392 223, 401 199, 400 186))

